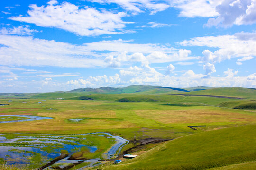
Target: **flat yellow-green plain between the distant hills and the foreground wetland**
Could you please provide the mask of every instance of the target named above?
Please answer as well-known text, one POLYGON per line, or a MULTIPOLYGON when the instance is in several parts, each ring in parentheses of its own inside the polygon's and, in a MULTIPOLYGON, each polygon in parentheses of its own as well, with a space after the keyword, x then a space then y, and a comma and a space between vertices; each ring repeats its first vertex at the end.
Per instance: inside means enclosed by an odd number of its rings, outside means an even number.
POLYGON ((185 101, 177 106, 165 105, 166 102, 33 99, 13 99, 10 103, 0 108, 0 114, 32 114, 54 119, 4 123, 0 126, 1 133, 110 132, 133 140, 148 137, 175 138, 219 127, 256 122, 256 115, 253 112, 196 104, 183 107, 185 101), (39 101, 41 104, 37 103, 39 101), (49 108, 52 109, 48 110, 49 108), (68 121, 74 118, 89 119, 79 123, 68 121), (207 127, 198 128, 197 131, 187 127, 199 124, 207 127))

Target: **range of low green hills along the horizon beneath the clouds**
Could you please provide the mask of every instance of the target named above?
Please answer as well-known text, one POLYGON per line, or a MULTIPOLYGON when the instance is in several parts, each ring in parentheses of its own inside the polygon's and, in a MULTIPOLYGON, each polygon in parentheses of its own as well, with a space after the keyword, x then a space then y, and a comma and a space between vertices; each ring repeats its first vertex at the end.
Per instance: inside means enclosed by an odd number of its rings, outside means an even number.
MULTIPOLYGON (((75 99, 82 97, 83 100, 90 99, 92 97, 88 95, 94 95, 96 99, 105 98, 105 94, 115 94, 113 98, 121 97, 120 95, 141 95, 143 100, 150 98, 150 100, 159 100, 154 96, 166 95, 166 94, 195 94, 195 95, 219 95, 228 97, 240 97, 252 99, 256 96, 256 89, 242 88, 242 87, 189 87, 189 88, 175 88, 175 87, 162 87, 151 85, 130 85, 127 87, 99 87, 99 88, 78 88, 70 91, 56 91, 49 93, 0 93, 0 97, 14 97, 14 98, 44 98, 44 99, 75 99), (98 96, 95 96, 98 95, 98 96), (117 96, 119 95, 119 96, 117 96), (149 96, 151 95, 151 97, 149 96), (145 97, 148 96, 148 97, 145 97)), ((112 98, 108 96, 108 98, 112 98)), ((123 96, 124 97, 124 96, 123 96)), ((125 96, 125 98, 128 96, 125 96)), ((81 99, 80 99, 81 100, 81 99)), ((130 99, 129 99, 130 100, 130 99)), ((137 100, 137 99, 132 99, 137 100)))

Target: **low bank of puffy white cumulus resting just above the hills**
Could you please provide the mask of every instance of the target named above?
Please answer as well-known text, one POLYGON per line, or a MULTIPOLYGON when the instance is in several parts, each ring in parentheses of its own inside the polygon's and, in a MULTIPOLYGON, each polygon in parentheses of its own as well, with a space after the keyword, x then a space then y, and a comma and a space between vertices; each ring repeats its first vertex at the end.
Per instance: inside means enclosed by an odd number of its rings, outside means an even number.
POLYGON ((228 69, 224 72, 224 77, 205 78, 203 74, 196 74, 193 70, 187 70, 181 76, 164 75, 151 68, 149 65, 141 65, 124 68, 118 74, 113 76, 94 76, 84 79, 86 85, 82 85, 81 80, 71 80, 68 83, 81 87, 102 87, 112 86, 120 87, 127 85, 161 85, 167 87, 192 87, 192 86, 210 86, 210 87, 256 87, 256 73, 250 76, 235 76, 238 71, 228 69), (204 77, 204 78, 203 78, 204 77))

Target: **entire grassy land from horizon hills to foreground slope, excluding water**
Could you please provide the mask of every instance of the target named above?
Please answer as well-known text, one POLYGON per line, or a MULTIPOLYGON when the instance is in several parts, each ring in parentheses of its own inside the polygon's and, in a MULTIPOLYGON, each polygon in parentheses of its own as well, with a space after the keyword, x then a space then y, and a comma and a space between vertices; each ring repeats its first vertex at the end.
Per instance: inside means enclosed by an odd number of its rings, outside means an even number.
MULTIPOLYGON (((138 155, 134 159, 121 158, 123 162, 118 165, 114 165, 113 161, 106 161, 87 169, 229 170, 233 166, 250 170, 248 167, 255 167, 255 163, 252 163, 256 161, 255 89, 181 89, 135 85, 125 88, 75 89, 69 92, 11 93, 1 94, 0 97, 0 103, 9 104, 0 106, 0 118, 3 117, 1 115, 53 118, 1 123, 0 134, 8 139, 17 136, 17 133, 18 136, 68 136, 106 132, 130 141, 120 154, 130 148, 137 148, 130 152, 138 155), (197 125, 205 127, 195 127, 197 130, 188 127, 197 125), (141 145, 143 139, 169 141, 141 145)), ((0 121, 12 119, 21 118, 8 117, 0 121)), ((99 136, 89 138, 100 148, 99 151, 92 154, 86 148, 80 148, 73 153, 73 157, 100 157, 113 144, 113 141, 99 136)), ((90 145, 89 138, 84 144, 90 145)), ((49 151, 51 147, 49 146, 49 151)), ((4 164, 4 160, 0 162, 4 164)), ((81 168, 82 165, 85 164, 76 165, 72 169, 81 168)), ((6 170, 15 169, 6 165, 2 167, 6 170)))

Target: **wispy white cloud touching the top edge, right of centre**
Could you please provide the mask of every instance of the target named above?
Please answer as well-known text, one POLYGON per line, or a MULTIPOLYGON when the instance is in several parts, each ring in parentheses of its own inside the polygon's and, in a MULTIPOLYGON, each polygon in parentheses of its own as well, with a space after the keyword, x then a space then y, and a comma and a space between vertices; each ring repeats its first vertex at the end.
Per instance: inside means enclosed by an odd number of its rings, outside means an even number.
POLYGON ((169 8, 168 3, 159 3, 155 0, 90 0, 101 4, 116 3, 127 11, 131 11, 133 15, 149 10, 150 14, 164 11, 169 8))

